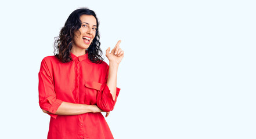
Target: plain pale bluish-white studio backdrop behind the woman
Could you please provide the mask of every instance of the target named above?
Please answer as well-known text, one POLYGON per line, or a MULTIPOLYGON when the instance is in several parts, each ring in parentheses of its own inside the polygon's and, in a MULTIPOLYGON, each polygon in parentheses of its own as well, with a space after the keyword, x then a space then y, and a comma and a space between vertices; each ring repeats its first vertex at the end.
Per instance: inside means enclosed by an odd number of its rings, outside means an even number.
POLYGON ((104 54, 119 39, 125 51, 120 96, 106 118, 114 138, 256 138, 254 1, 0 5, 0 138, 46 138, 50 116, 38 104, 39 66, 80 7, 96 12, 104 54))

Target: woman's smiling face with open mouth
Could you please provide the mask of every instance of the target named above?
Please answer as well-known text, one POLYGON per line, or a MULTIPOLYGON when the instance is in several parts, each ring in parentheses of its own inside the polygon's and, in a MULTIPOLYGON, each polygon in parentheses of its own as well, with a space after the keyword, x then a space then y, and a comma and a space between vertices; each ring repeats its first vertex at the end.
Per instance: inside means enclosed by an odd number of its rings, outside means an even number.
POLYGON ((83 14, 80 16, 81 28, 74 34, 74 46, 76 49, 87 49, 96 34, 97 22, 94 16, 83 14))

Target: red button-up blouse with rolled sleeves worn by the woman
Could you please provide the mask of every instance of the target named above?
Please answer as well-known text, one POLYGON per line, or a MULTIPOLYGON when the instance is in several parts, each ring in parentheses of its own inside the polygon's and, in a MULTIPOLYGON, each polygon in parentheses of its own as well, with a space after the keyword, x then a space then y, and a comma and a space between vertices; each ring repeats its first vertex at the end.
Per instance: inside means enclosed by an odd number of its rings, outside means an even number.
POLYGON ((38 73, 39 106, 53 114, 48 138, 113 138, 101 112, 81 115, 55 115, 63 101, 76 104, 96 104, 103 111, 112 111, 120 89, 117 87, 113 101, 107 77, 109 65, 92 63, 88 54, 75 56, 69 63, 62 63, 56 56, 44 57, 38 73))

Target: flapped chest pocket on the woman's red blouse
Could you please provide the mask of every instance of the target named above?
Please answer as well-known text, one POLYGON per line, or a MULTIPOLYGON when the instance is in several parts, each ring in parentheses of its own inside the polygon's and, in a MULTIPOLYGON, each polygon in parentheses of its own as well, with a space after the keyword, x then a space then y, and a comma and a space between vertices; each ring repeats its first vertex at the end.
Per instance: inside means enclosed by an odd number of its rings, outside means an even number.
POLYGON ((97 93, 102 88, 102 83, 85 81, 85 103, 96 104, 97 93))

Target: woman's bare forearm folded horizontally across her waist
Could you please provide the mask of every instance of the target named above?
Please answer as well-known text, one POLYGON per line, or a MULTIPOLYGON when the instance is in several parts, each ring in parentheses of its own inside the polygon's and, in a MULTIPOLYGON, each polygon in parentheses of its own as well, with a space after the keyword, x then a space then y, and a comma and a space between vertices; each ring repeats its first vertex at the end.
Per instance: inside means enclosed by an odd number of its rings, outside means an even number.
MULTIPOLYGON (((52 114, 51 112, 45 111, 45 113, 52 114)), ((88 112, 102 112, 100 108, 96 105, 86 105, 86 104, 74 104, 63 102, 60 107, 55 112, 56 115, 80 115, 88 112)))

